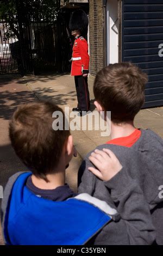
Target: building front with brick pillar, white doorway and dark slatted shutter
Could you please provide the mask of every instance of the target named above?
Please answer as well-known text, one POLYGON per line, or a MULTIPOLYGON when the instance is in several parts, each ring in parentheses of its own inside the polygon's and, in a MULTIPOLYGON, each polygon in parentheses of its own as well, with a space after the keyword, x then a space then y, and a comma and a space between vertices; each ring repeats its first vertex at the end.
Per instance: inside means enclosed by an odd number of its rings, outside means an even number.
POLYGON ((163 105, 162 0, 90 0, 90 74, 132 62, 148 74, 143 107, 163 105))

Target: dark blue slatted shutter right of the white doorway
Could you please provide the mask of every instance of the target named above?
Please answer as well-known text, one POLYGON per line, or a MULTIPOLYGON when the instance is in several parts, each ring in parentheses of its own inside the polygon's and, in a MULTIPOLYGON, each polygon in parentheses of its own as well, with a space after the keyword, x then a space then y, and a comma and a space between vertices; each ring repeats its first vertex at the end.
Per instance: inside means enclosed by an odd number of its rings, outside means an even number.
POLYGON ((122 0, 122 61, 149 76, 143 107, 163 105, 163 0, 122 0))

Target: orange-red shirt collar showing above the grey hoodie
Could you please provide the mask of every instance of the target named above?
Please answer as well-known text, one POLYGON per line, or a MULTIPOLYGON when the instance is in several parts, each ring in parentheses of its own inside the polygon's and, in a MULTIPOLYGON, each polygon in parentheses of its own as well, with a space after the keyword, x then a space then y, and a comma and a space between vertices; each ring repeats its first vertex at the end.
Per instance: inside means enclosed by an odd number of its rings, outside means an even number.
POLYGON ((138 141, 140 136, 141 136, 141 131, 138 129, 135 129, 135 131, 131 133, 131 135, 126 137, 111 139, 111 141, 106 142, 106 144, 114 144, 114 145, 131 148, 135 144, 135 142, 138 141))

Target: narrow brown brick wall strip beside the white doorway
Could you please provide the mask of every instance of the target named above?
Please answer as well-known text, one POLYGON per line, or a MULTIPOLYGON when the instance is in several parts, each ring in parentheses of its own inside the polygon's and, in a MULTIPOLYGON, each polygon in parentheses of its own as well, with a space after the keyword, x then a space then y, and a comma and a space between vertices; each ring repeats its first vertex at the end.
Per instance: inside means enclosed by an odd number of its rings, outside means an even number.
POLYGON ((105 65, 104 50, 104 8, 102 0, 90 0, 90 74, 96 73, 105 65))

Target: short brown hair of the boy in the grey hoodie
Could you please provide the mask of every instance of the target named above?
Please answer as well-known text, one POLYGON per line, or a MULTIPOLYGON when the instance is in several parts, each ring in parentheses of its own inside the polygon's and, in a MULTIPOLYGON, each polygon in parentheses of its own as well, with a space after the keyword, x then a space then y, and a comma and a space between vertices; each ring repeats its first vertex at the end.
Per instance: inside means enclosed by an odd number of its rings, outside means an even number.
POLYGON ((134 120, 145 102, 147 74, 130 62, 110 64, 99 71, 93 92, 114 123, 134 120))

